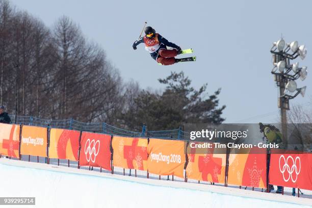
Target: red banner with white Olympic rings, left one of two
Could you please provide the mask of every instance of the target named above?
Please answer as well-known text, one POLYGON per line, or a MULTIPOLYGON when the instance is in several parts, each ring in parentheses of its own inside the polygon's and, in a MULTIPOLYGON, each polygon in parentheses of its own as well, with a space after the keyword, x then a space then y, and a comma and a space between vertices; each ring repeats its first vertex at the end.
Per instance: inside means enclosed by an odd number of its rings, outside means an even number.
POLYGON ((80 166, 111 168, 111 136, 83 132, 81 135, 80 166))

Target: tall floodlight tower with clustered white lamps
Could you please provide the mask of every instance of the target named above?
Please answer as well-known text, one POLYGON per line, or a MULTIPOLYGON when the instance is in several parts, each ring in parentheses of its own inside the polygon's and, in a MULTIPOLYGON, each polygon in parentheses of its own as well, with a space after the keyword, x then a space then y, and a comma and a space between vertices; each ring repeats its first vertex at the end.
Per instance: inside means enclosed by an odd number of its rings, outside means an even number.
POLYGON ((300 57, 302 60, 306 57, 307 50, 304 45, 298 45, 298 41, 288 43, 285 47, 283 38, 273 43, 270 50, 273 57, 274 81, 279 87, 278 108, 280 108, 283 142, 288 145, 287 137, 287 110, 289 110, 289 100, 295 98, 298 94, 304 96, 306 86, 297 88, 295 80, 305 80, 307 76, 307 67, 299 67, 299 62, 290 64, 290 60, 300 57), (285 48, 285 49, 284 49, 285 48), (295 94, 292 95, 297 91, 295 94))

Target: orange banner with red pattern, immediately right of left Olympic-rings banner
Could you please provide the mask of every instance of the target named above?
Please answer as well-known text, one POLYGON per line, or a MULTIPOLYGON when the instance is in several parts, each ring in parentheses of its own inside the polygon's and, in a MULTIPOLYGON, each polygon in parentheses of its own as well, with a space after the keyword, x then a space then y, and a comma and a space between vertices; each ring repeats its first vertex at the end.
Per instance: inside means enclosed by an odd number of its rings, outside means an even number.
POLYGON ((113 166, 147 170, 147 139, 113 137, 113 166))

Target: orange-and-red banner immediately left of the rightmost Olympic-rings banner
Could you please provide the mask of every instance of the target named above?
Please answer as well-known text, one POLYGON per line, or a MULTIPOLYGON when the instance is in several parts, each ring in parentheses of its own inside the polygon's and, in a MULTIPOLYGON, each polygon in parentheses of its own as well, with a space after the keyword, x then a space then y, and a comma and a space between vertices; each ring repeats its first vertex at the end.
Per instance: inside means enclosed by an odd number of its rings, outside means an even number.
POLYGON ((267 150, 245 148, 238 151, 229 155, 227 183, 230 185, 266 188, 267 150))

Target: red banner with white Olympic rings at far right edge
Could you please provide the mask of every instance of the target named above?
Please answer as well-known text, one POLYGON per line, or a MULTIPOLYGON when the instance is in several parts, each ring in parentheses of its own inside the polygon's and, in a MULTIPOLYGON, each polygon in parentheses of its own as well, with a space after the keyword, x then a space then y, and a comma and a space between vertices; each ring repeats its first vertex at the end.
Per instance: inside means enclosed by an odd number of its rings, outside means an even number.
POLYGON ((312 190, 312 154, 281 149, 272 150, 269 183, 312 190))

